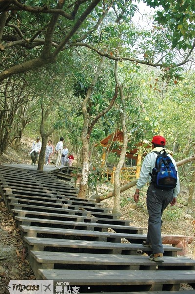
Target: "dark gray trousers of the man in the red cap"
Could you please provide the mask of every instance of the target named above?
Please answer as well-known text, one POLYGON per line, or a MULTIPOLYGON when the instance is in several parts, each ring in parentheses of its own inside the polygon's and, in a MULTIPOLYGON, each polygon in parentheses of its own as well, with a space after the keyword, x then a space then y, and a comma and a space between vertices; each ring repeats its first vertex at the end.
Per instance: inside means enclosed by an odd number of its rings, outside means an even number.
POLYGON ((172 190, 160 190, 151 183, 147 190, 146 204, 149 214, 146 242, 152 244, 153 254, 164 253, 161 239, 162 214, 173 200, 172 190))

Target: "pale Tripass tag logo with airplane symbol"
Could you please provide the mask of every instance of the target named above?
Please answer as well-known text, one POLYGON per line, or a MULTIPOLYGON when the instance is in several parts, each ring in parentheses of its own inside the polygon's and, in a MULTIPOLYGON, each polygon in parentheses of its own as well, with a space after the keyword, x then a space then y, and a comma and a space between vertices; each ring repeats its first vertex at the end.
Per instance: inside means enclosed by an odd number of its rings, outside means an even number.
POLYGON ((11 280, 10 294, 53 294, 53 280, 11 280))

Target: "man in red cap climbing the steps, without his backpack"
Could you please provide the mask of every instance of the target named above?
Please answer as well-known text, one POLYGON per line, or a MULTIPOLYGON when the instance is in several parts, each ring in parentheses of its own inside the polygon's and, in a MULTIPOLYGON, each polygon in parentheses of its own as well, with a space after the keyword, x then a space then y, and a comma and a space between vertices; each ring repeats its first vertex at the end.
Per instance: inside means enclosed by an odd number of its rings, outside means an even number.
MULTIPOLYGON (((177 184, 172 190, 161 190, 154 186, 151 182, 152 170, 155 167, 157 154, 154 151, 160 152, 165 149, 166 140, 162 136, 154 136, 152 139, 152 151, 146 155, 141 171, 140 177, 137 181, 137 188, 134 194, 134 201, 139 201, 140 189, 149 181, 150 185, 147 190, 147 210, 149 214, 148 219, 148 232, 146 241, 142 243, 144 247, 151 247, 153 254, 150 255, 149 259, 156 262, 163 262, 163 244, 161 239, 161 225, 162 225, 162 214, 165 208, 171 203, 171 206, 176 204, 177 195, 180 191, 179 177, 177 172, 177 184)), ((168 154, 171 158, 175 169, 177 171, 176 162, 173 157, 168 154)))

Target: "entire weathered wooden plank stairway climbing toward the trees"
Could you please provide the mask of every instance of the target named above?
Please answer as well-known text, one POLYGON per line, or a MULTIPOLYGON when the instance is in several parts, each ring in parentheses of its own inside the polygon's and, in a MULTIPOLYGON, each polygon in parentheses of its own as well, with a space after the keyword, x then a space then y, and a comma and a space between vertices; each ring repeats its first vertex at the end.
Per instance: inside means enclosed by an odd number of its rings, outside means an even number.
POLYGON ((78 189, 57 178, 63 172, 0 165, 0 193, 36 279, 66 281, 86 294, 187 294, 181 284, 195 288, 195 260, 177 256, 181 249, 171 245, 164 245, 164 263, 149 260, 152 249, 142 246, 146 228, 77 198, 78 189))

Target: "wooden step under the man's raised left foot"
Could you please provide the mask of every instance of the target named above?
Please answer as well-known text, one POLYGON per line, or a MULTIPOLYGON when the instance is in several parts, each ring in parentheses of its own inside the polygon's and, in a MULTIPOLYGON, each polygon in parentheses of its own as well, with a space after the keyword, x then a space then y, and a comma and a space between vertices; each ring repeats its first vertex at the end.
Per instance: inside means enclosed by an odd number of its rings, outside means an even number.
MULTIPOLYGON (((151 254, 152 249, 143 247, 136 243, 116 243, 101 241, 86 241, 75 239, 56 239, 41 237, 24 237, 24 241, 30 250, 55 251, 55 252, 76 252, 76 253, 106 253, 106 254, 128 254, 137 255, 140 252, 151 254), (139 251, 139 252, 138 252, 139 251)), ((164 256, 176 256, 177 248, 170 245, 163 245, 164 256)))

